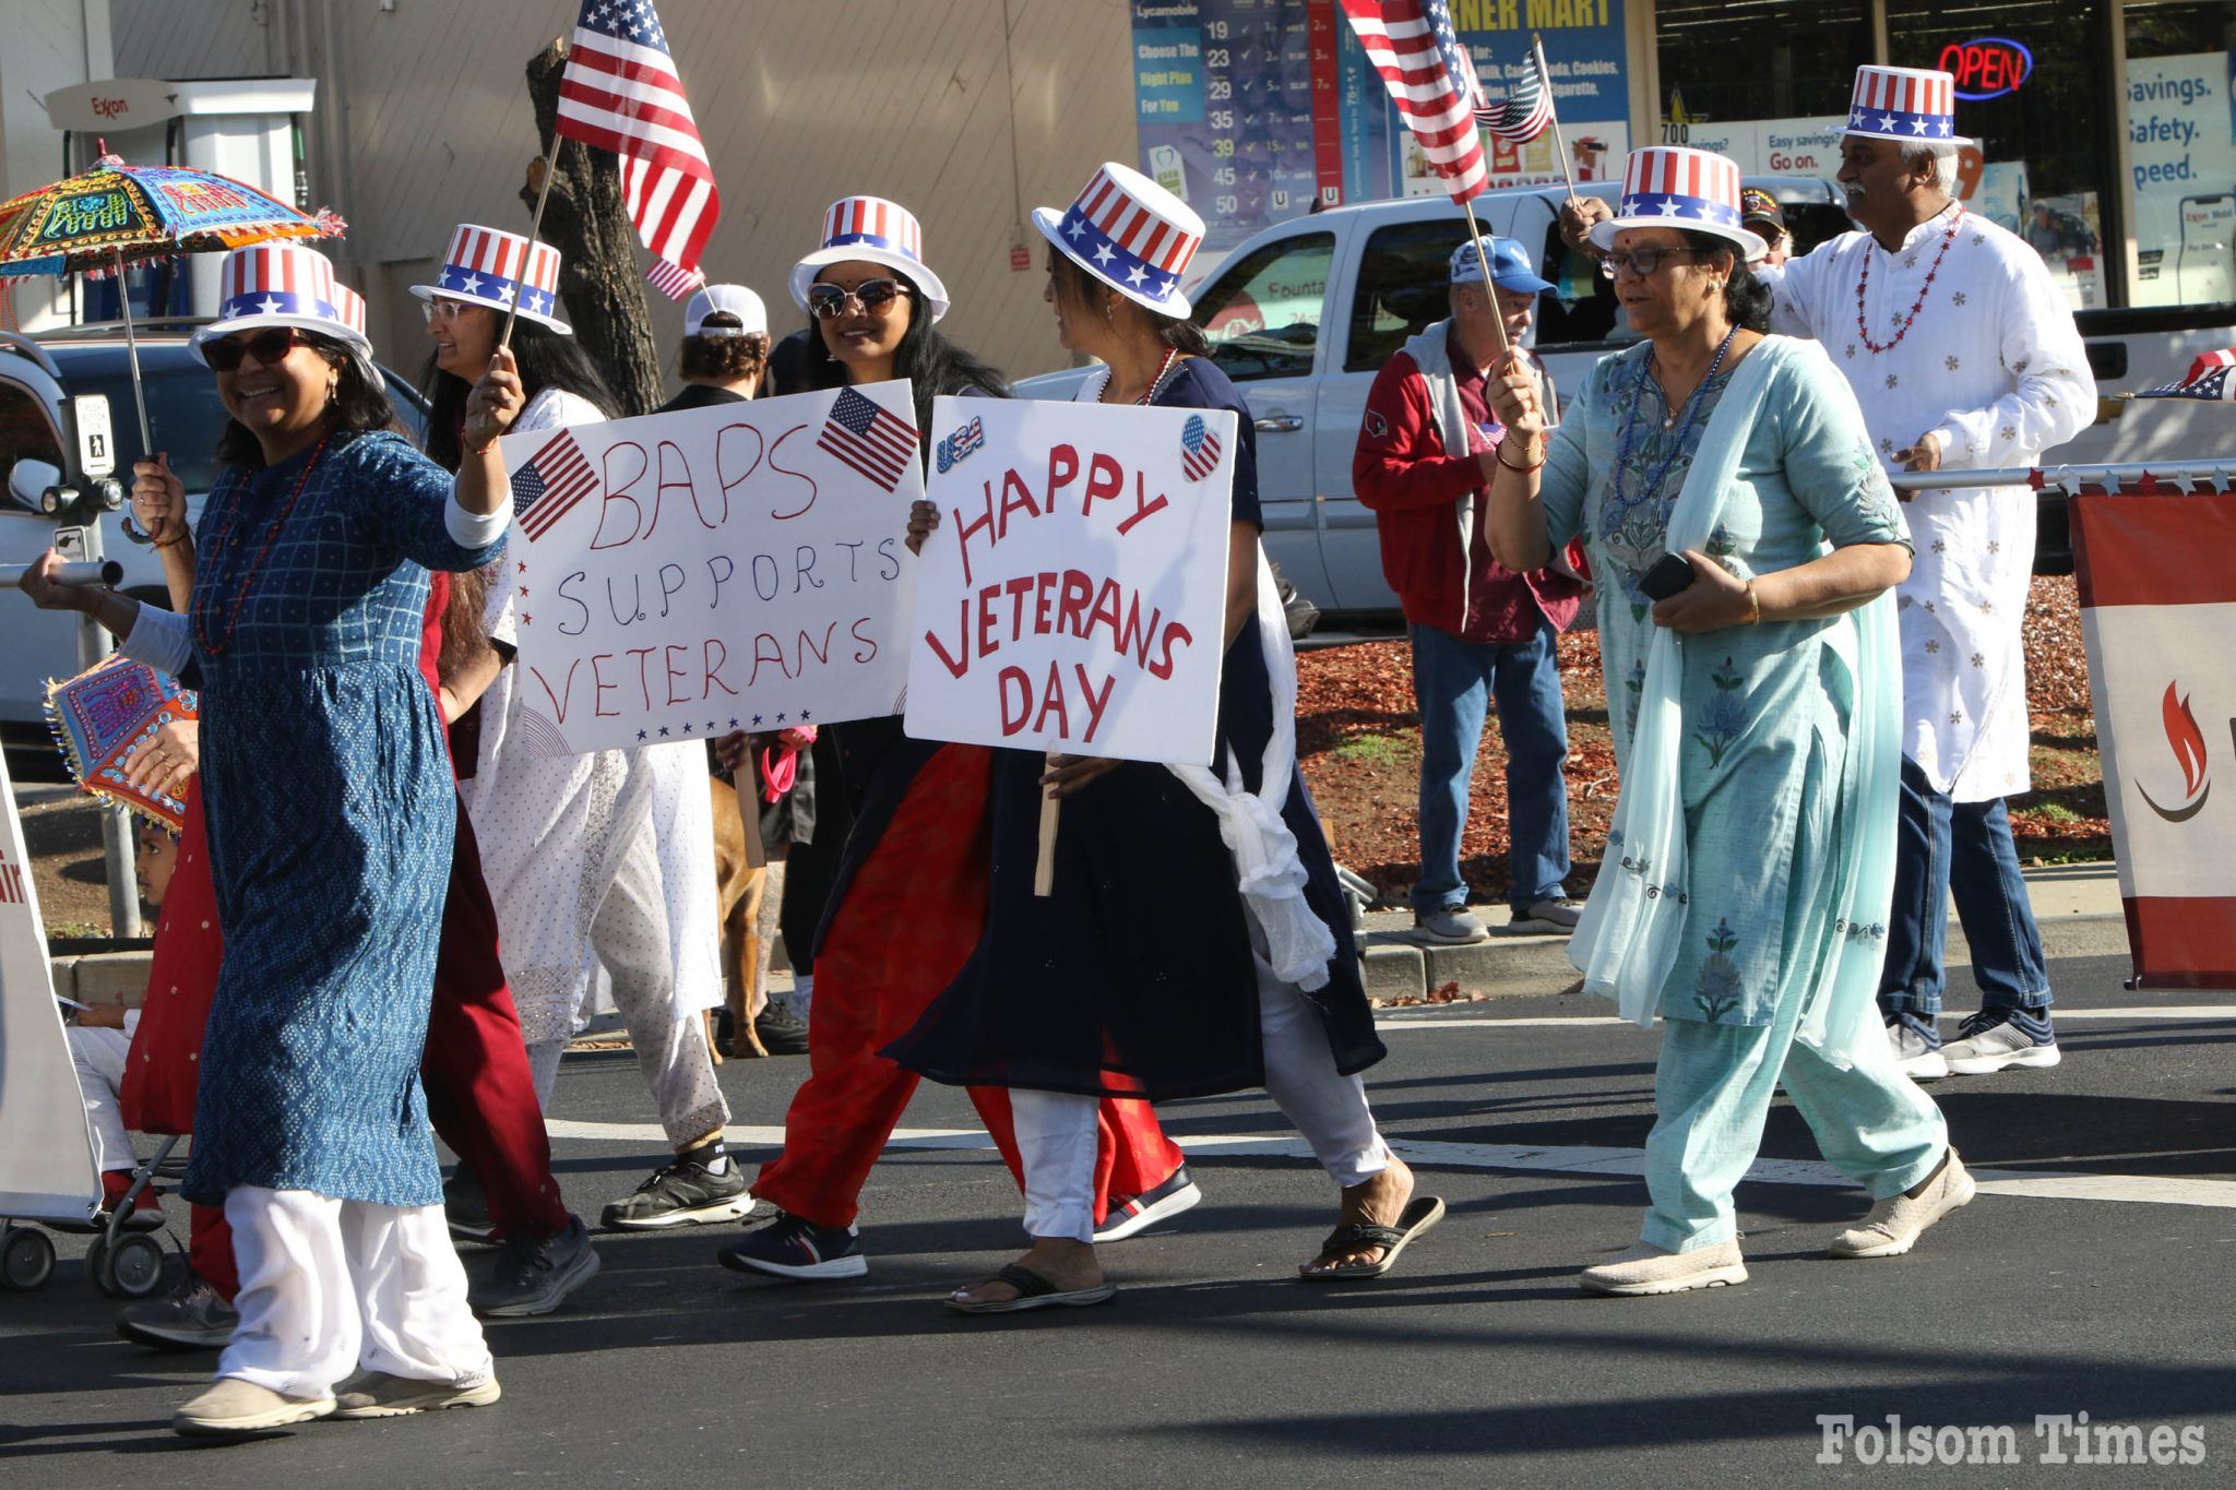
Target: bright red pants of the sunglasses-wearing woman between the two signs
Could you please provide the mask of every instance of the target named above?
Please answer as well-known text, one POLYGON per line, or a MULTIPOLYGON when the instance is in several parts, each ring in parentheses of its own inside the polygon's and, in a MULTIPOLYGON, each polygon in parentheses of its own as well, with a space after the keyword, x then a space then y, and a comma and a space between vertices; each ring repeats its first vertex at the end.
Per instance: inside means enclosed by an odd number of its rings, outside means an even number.
MULTIPOLYGON (((845 889, 807 1010, 807 1081, 785 1112, 785 1153, 754 1195, 816 1226, 850 1226, 917 1072, 877 1054, 906 1034, 961 972, 986 925, 993 753, 944 746, 894 811, 845 889)), ((1008 1090, 966 1088, 1008 1173, 1024 1186, 1008 1090)), ((1096 1148, 1096 1222, 1111 1195, 1154 1191, 1181 1150, 1147 1101, 1105 1099, 1096 1148)))

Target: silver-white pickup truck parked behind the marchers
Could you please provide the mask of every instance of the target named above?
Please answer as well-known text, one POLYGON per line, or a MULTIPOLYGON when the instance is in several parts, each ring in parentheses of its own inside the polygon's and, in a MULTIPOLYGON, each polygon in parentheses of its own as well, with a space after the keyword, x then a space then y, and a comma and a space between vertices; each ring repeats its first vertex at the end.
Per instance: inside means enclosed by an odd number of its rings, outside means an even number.
MULTIPOLYGON (((1778 197, 1798 250, 1851 223, 1840 192, 1813 176, 1757 176, 1778 197)), ((1617 183, 1585 183, 1612 199, 1617 183)), ((1563 248, 1561 188, 1516 188, 1476 199, 1485 232, 1520 239, 1558 286, 1538 304, 1532 344, 1554 384, 1574 389, 1592 362, 1635 337, 1597 264, 1563 248)), ((1406 337, 1444 315, 1444 266, 1467 237, 1460 208, 1442 197, 1366 201, 1277 223, 1234 248, 1196 288, 1196 319, 1214 360, 1257 418, 1259 500, 1266 550, 1328 612, 1395 612, 1382 579, 1375 514, 1351 489, 1351 451, 1375 373, 1406 337)), ((2205 351, 2236 344, 2236 306, 2084 311, 2082 335, 2100 393, 2180 378, 2205 351)), ((1026 398, 1071 398, 1087 369, 1026 378, 1026 398)), ((2227 447, 2227 411, 2187 400, 2120 404, 2104 398, 2093 429, 2046 460, 2209 458, 2227 447)), ((2071 570, 2064 498, 2041 498, 2039 572, 2071 570)))

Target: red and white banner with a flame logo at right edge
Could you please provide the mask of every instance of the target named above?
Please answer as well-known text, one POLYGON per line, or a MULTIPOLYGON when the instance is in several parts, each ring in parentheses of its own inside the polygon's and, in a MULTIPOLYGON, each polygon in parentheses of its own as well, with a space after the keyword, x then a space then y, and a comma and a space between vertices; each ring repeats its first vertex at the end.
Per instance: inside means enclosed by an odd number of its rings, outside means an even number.
POLYGON ((2135 978, 2236 987, 2236 494, 2071 509, 2135 978))

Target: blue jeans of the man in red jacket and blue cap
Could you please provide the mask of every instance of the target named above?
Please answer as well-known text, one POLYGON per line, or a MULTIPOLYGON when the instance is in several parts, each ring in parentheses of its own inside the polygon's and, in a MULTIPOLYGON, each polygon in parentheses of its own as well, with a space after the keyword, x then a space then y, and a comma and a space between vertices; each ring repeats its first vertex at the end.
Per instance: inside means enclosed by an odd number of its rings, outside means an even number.
POLYGON ((1460 641, 1433 625, 1413 637, 1413 699, 1420 704, 1420 914, 1467 905, 1460 878, 1460 829, 1467 786, 1476 775, 1482 717, 1498 706, 1507 742, 1507 902, 1516 911, 1565 894, 1567 878, 1567 719, 1561 713, 1561 668, 1552 621, 1512 646, 1460 641))

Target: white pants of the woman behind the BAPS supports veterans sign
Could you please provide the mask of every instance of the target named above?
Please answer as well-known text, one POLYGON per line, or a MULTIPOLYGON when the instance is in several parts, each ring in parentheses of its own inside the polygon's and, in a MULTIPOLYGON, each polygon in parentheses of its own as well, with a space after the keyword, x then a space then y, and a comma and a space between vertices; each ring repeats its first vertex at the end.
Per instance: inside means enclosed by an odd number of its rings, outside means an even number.
MULTIPOLYGON (((657 842, 648 831, 637 833, 590 920, 590 947, 613 978, 613 1007, 628 1025, 628 1043, 637 1048, 637 1070, 653 1088, 660 1126, 669 1144, 682 1146, 720 1130, 729 1121, 729 1101, 716 1083, 704 1014, 675 1012, 675 963, 669 956, 662 885, 657 842)), ((546 1112, 566 1045, 568 1037, 559 1034, 528 1048, 528 1070, 546 1112)))

